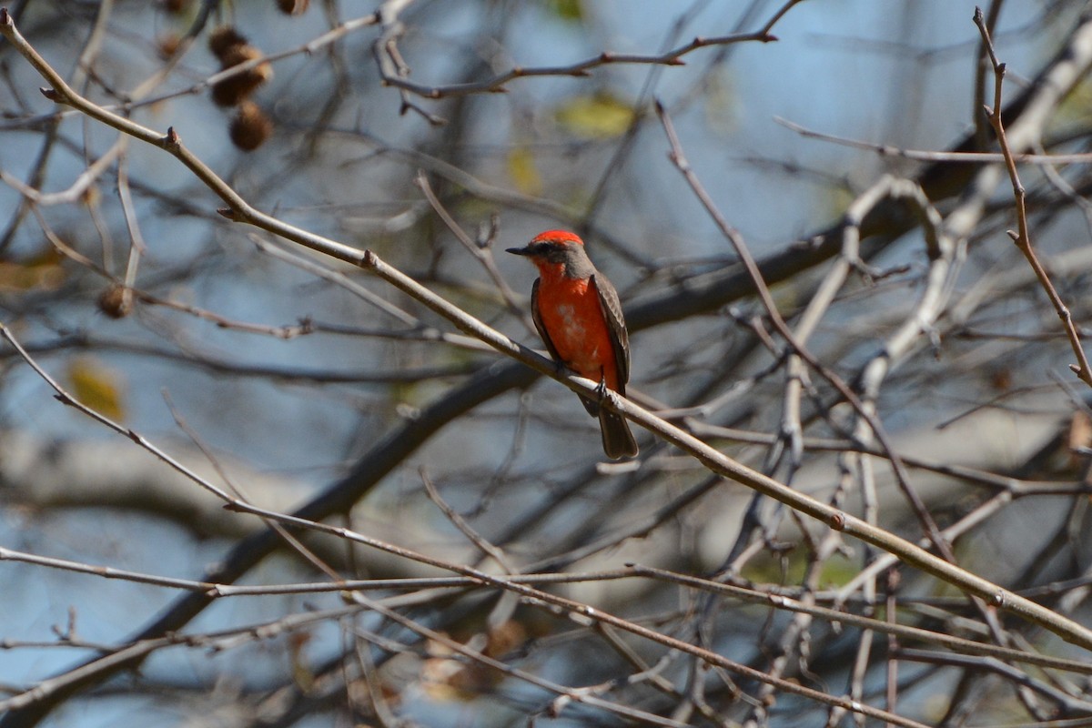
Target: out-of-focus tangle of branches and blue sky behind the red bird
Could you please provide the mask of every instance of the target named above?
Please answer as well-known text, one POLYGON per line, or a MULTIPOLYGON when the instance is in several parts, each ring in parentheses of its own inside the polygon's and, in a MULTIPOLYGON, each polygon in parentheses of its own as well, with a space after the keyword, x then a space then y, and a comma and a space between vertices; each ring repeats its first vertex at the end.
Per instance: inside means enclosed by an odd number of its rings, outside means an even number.
MULTIPOLYGON (((502 251, 544 229, 579 232, 627 310, 633 399, 911 540, 931 518, 952 529, 961 565, 1088 623, 1089 420, 1073 351, 1006 235, 1016 206, 997 158, 925 154, 996 150, 974 10, 9 4, 91 102, 175 129, 258 210, 375 251, 527 346, 542 346, 527 315, 534 271, 502 251), (238 63, 249 65, 216 75, 238 63), (928 518, 860 414, 778 336, 679 154, 759 261, 781 317, 875 409, 928 518), (929 207, 894 200, 885 176, 916 182, 929 207), (847 231, 859 250, 844 247, 847 231)), ((983 8, 1017 152, 1088 151, 1087 10, 983 8)), ((1088 656, 646 432, 637 460, 605 462, 595 420, 565 387, 352 265, 228 220, 177 159, 40 86, 0 45, 0 321, 26 353, 0 347, 0 557, 21 554, 0 563, 0 726, 864 725, 490 589, 366 594, 524 677, 456 659, 426 630, 336 593, 210 600, 193 585, 33 562, 253 586, 450 575, 335 538, 308 540, 302 556, 58 402, 41 372, 244 500, 497 573, 582 574, 550 589, 776 678, 936 725, 1092 715, 1079 673, 993 669, 670 581, 595 576, 631 562, 715 573, 757 595, 1088 656), (886 601, 891 573, 901 586, 886 601), (176 632, 189 641, 139 642, 176 632), (138 645, 132 661, 73 672, 138 645), (526 675, 594 687, 630 713, 558 706, 526 675), (54 676, 71 680, 27 697, 54 676)), ((1019 169, 1033 243, 1083 334, 1088 160, 1019 169)))

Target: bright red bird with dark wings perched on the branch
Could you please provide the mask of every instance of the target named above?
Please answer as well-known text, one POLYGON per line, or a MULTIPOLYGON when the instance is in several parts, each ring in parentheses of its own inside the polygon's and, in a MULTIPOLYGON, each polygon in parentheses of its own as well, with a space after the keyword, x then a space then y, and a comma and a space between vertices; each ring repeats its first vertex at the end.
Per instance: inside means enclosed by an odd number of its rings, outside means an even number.
MULTIPOLYGON (((621 302, 610 282, 592 265, 583 240, 565 230, 547 230, 525 248, 509 248, 508 252, 525 255, 538 268, 538 279, 531 289, 531 318, 554 360, 625 396, 629 334, 621 302)), ((595 399, 580 399, 592 417, 600 418, 607 457, 637 454, 637 441, 626 418, 595 399)))

